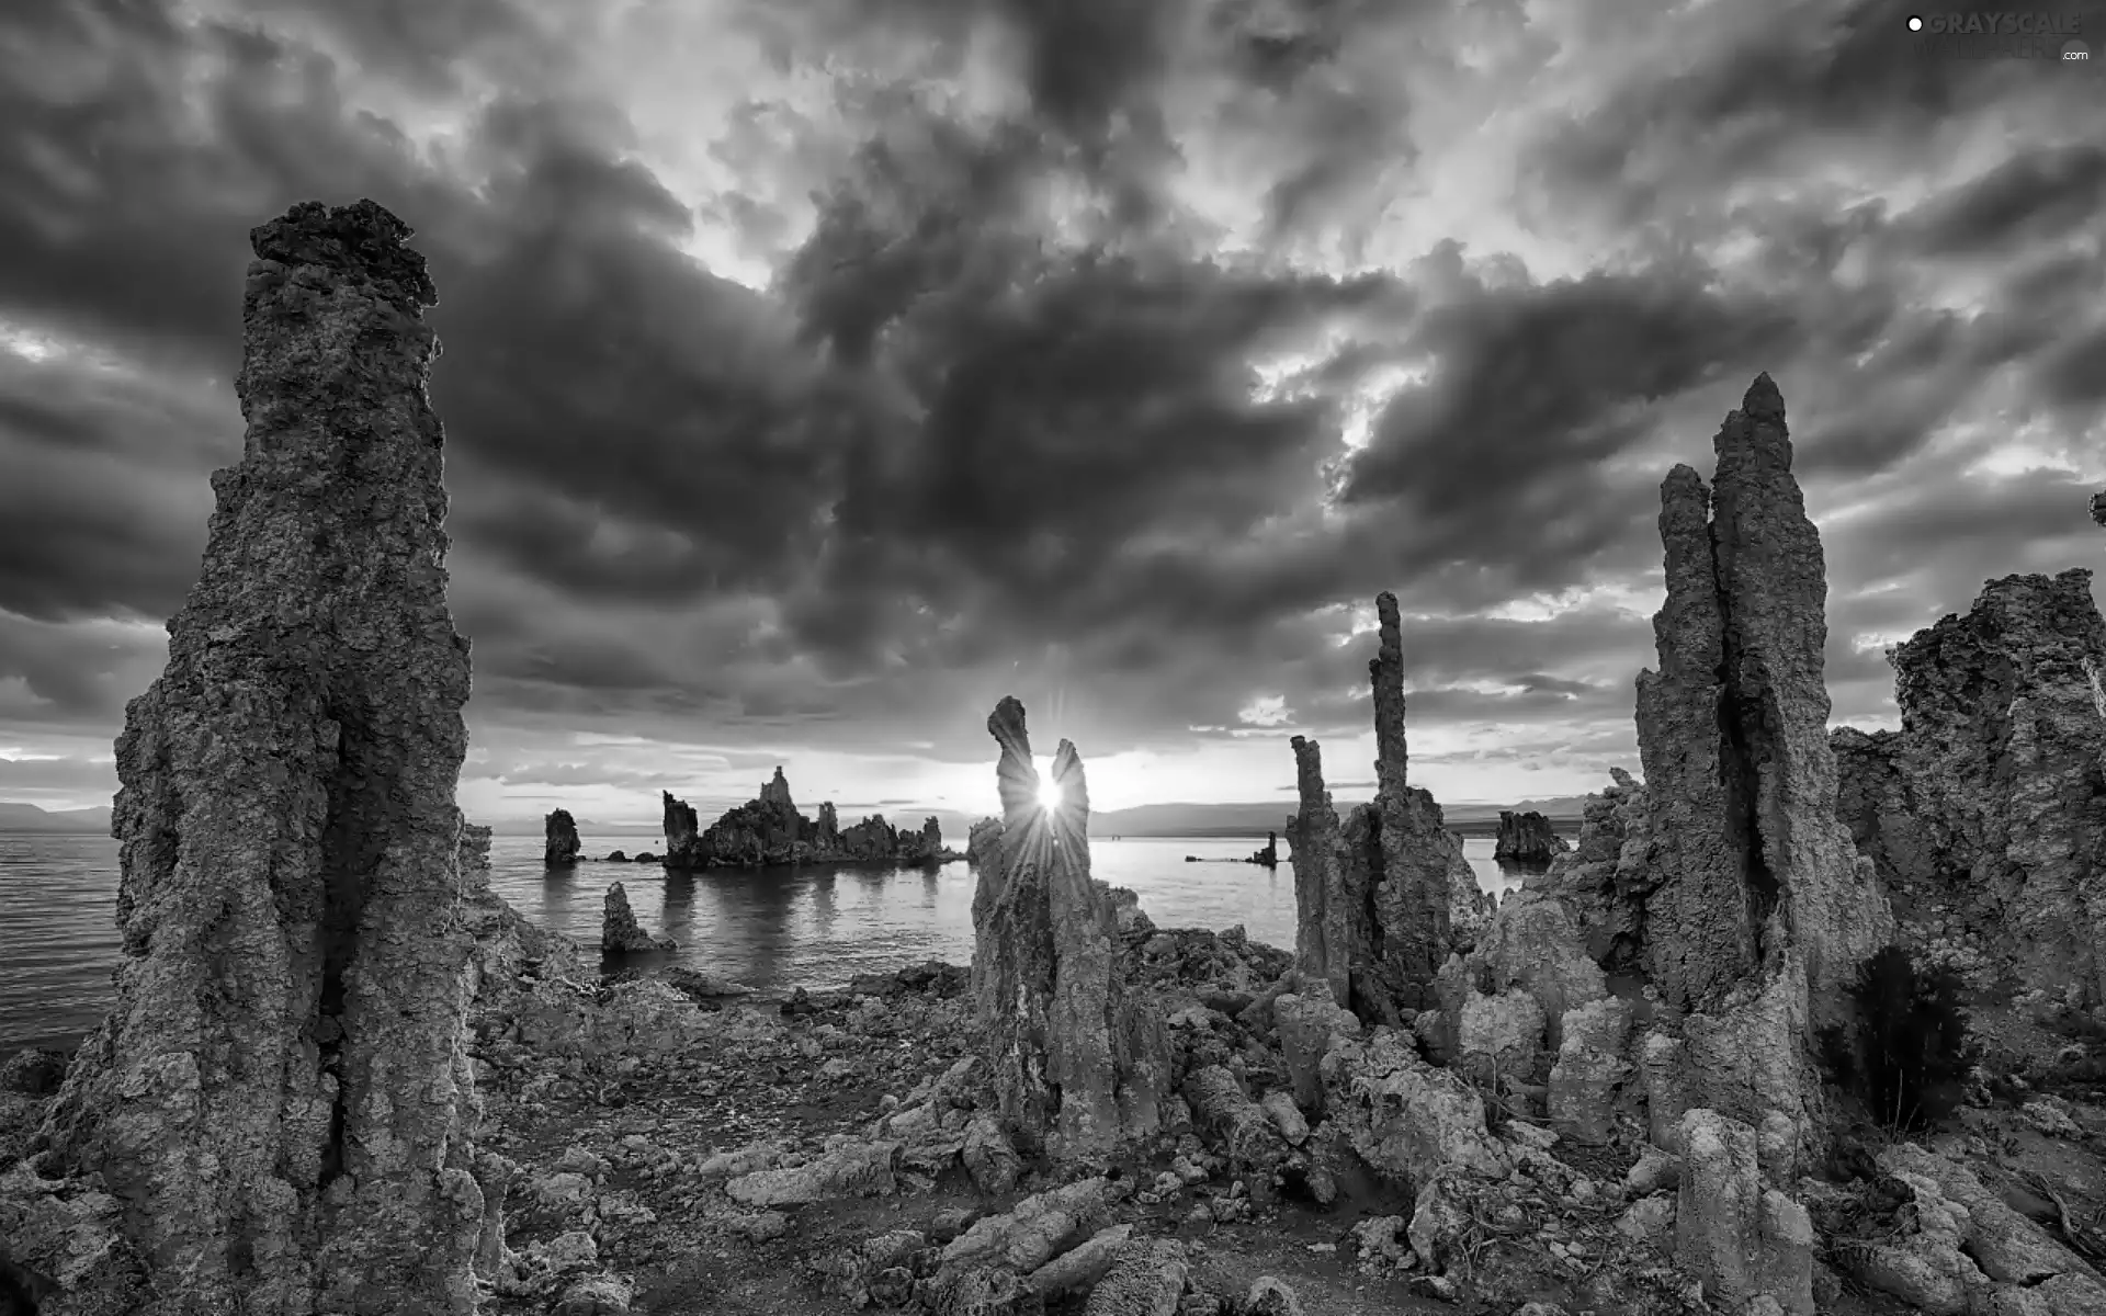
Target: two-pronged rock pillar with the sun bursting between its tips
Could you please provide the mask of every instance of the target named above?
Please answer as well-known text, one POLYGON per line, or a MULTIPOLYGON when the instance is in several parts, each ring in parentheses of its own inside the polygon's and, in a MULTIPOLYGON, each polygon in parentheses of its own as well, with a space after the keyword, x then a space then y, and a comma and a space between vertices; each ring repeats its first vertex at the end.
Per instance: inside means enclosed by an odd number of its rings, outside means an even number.
POLYGON ((1169 1097, 1160 1019, 1116 973, 1108 889, 1089 876, 1089 783, 1068 741, 1053 754, 1061 802, 1038 802, 1024 705, 988 716, 1000 745, 1005 842, 973 893, 973 990, 988 1030, 1002 1131, 1055 1156, 1156 1131, 1169 1097))

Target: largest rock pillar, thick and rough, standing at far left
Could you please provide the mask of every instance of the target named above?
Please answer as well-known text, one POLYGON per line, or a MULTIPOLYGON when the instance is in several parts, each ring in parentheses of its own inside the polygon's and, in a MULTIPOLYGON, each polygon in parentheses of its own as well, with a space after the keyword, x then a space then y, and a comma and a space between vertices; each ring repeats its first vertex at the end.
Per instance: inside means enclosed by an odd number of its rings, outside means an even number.
POLYGON ((406 236, 373 202, 251 232, 242 459, 116 745, 118 1002, 44 1143, 122 1204, 135 1310, 474 1310, 470 670, 406 236))

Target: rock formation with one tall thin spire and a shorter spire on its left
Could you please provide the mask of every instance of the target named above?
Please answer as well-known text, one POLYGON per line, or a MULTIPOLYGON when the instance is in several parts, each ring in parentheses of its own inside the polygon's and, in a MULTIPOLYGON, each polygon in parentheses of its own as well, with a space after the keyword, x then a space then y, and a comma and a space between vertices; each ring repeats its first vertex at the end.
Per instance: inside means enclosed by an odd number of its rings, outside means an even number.
POLYGON ((1434 977, 1470 950, 1491 916, 1462 842, 1432 794, 1407 783, 1405 672, 1394 594, 1375 598, 1379 649, 1373 804, 1342 825, 1323 781, 1316 741, 1293 739, 1299 811, 1287 840, 1295 868, 1295 954, 1302 971, 1369 1021, 1436 1002, 1434 977))

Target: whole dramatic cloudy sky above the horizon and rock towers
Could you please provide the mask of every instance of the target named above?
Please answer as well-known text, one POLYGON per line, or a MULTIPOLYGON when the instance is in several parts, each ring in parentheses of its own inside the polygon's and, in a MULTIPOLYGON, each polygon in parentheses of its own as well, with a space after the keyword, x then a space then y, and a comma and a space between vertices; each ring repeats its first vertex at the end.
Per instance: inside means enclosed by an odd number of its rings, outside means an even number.
MULTIPOLYGON (((2079 13, 2079 11, 2062 11, 2079 13)), ((107 802, 246 230, 440 288, 463 804, 981 811, 1634 766, 1657 486, 1784 390, 1836 718, 1984 577, 2098 564, 2106 67, 1853 0, 4 0, 0 798, 107 802)), ((2098 48, 2106 11, 2083 11, 2098 48)))

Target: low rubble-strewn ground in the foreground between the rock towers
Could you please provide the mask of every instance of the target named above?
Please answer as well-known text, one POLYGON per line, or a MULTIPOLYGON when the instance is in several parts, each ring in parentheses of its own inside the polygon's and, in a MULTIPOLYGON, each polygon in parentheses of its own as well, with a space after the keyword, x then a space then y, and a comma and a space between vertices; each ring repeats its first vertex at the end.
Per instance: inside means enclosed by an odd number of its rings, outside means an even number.
MULTIPOLYGON (((1188 1070, 1224 1065, 1251 1095, 1289 1086, 1264 1017, 1283 952, 1236 933, 1139 929, 1129 943, 1137 983, 1188 998, 1173 1017, 1188 1070)), ((1325 1124, 1297 1126, 1280 1099, 1268 1114, 1308 1164, 1329 1167, 1320 1188, 1291 1169, 1278 1188, 1259 1183, 1234 1139, 1194 1126, 1190 1112, 1114 1160, 1057 1177, 1026 1164, 975 1122, 979 1036, 956 966, 786 1002, 724 996, 699 975, 676 975, 678 988, 579 981, 535 962, 524 975, 476 1021, 480 1143, 518 1167, 491 1312, 1708 1310, 1670 1261, 1674 1160, 1636 1137, 1563 1141, 1527 1093, 1489 1105, 1516 1171, 1441 1190, 1459 1215, 1434 1272, 1409 1236, 1409 1190, 1318 1154, 1325 1124), (1154 1289, 1114 1289, 1133 1276, 1154 1289)), ((2106 1025, 2041 998, 1978 1002, 1971 1025, 1982 1059, 1969 1101, 1916 1141, 2098 1261, 2106 1025)), ((6 1065, 0 1158, 23 1148, 57 1076, 48 1055, 6 1065)), ((1898 1141, 1860 1120, 1839 1139, 1832 1181, 1801 1190, 1826 1240, 1824 1312, 1967 1310, 1940 1308, 1923 1276, 1866 1265, 1925 1230, 1923 1204, 1879 1169, 1898 1141), (1881 1293, 1862 1274, 1929 1301, 1881 1293)))

